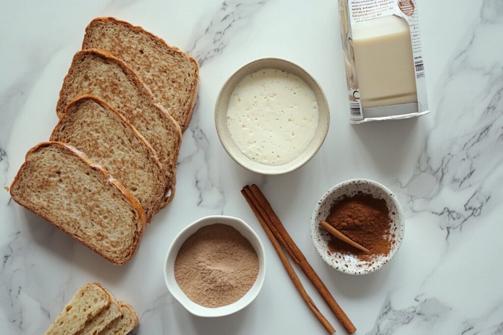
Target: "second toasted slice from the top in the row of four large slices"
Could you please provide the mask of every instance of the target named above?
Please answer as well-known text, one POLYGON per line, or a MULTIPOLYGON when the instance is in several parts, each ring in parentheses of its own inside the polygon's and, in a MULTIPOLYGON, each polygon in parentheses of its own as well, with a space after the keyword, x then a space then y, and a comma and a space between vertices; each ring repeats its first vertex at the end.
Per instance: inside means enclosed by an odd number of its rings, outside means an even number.
POLYGON ((182 132, 152 92, 119 59, 99 50, 82 50, 73 57, 64 78, 56 106, 58 116, 61 118, 66 105, 82 94, 93 94, 110 104, 150 143, 169 180, 171 195, 167 200, 171 200, 182 132))

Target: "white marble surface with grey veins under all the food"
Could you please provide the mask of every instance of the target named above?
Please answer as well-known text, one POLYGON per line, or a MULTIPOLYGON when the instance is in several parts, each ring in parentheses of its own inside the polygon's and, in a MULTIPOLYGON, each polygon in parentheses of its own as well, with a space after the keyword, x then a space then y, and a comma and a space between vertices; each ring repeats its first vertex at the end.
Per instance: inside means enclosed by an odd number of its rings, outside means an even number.
MULTIPOLYGON (((42 333, 79 286, 99 281, 138 311, 136 334, 324 334, 242 199, 239 190, 248 183, 262 187, 358 333, 503 333, 503 3, 418 0, 417 7, 433 113, 350 126, 335 0, 0 3, 2 185, 10 185, 28 149, 47 140, 63 76, 94 17, 141 25, 201 63, 199 103, 184 134, 177 196, 147 227, 127 265, 112 266, 0 192, 0 333, 42 333), (224 80, 263 56, 305 67, 331 108, 319 153, 278 177, 235 164, 213 123, 224 80), (354 277, 317 256, 309 220, 326 189, 359 177, 398 195, 406 228, 389 265, 354 277), (221 213, 241 217, 256 230, 266 246, 268 273, 246 309, 204 319, 167 292, 162 264, 183 227, 221 213)), ((312 286, 306 283, 306 289, 344 334, 312 286)))

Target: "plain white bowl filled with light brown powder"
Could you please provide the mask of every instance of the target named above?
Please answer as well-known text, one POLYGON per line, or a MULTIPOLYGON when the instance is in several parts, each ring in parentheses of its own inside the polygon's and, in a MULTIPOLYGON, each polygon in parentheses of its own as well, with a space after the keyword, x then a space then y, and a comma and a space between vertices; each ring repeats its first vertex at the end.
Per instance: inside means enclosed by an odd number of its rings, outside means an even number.
POLYGON ((257 234, 241 219, 203 217, 175 238, 166 255, 164 279, 188 311, 215 317, 234 313, 257 297, 266 259, 257 234))

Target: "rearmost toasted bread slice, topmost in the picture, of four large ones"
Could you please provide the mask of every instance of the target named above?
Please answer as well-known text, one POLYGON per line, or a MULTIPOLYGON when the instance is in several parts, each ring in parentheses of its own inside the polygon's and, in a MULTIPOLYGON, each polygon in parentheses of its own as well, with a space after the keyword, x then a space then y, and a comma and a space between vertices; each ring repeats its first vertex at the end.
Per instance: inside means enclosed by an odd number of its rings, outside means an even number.
POLYGON ((187 128, 199 82, 199 65, 194 57, 141 27, 114 18, 97 18, 89 24, 82 49, 91 48, 106 50, 126 62, 182 130, 187 128))

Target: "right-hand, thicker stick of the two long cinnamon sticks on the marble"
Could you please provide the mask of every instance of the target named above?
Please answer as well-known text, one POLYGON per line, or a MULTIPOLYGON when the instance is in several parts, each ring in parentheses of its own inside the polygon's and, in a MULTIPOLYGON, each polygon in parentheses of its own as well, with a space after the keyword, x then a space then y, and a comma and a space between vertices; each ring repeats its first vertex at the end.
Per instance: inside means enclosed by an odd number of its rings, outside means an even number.
POLYGON ((346 313, 339 306, 337 301, 330 294, 326 286, 323 284, 321 279, 318 277, 316 272, 313 270, 311 265, 307 262, 304 254, 297 247, 295 242, 292 240, 285 227, 281 223, 281 220, 274 212, 269 201, 259 189, 257 185, 245 186, 243 188, 245 192, 249 195, 251 193, 250 199, 254 202, 255 206, 261 213, 266 222, 268 228, 271 230, 276 239, 283 245, 287 253, 290 255, 292 260, 299 265, 306 277, 313 284, 316 290, 319 292, 325 303, 328 305, 333 314, 337 317, 342 326, 350 334, 356 332, 355 325, 351 322, 346 313))

